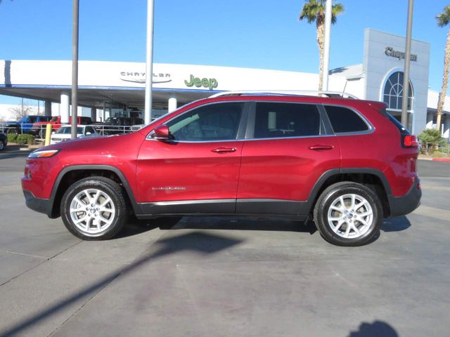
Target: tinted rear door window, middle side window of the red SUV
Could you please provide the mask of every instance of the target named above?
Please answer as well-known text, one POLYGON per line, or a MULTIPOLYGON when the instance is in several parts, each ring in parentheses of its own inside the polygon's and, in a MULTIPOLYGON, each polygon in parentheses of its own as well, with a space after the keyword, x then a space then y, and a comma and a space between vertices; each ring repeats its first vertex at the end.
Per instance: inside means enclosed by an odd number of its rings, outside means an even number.
POLYGON ((318 136, 320 122, 316 105, 257 103, 254 138, 318 136))

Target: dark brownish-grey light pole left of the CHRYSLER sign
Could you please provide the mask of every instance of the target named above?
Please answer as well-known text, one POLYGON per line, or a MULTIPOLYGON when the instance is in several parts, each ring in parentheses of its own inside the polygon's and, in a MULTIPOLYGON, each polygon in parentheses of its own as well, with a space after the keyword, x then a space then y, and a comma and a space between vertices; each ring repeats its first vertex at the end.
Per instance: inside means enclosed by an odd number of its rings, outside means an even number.
POLYGON ((72 13, 72 130, 70 138, 77 138, 78 110, 78 8, 79 0, 73 0, 72 13))

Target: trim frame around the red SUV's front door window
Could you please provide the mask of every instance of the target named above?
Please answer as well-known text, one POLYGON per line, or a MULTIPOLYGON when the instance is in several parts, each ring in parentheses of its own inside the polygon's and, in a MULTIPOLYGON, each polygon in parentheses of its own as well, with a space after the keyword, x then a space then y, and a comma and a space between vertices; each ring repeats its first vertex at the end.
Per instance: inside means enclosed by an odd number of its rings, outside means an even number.
MULTIPOLYGON (((236 134, 235 139, 222 139, 222 140, 164 140, 165 143, 225 143, 225 142, 238 142, 240 140, 244 140, 245 138, 245 131, 247 129, 248 124, 248 114, 250 109, 250 104, 252 103, 251 100, 224 100, 219 102, 211 102, 207 103, 205 105, 198 105, 196 107, 193 107, 192 109, 186 110, 182 112, 181 114, 177 114, 176 116, 167 119, 163 124, 169 123, 169 121, 172 121, 173 119, 176 119, 178 117, 183 116, 184 114, 187 114, 188 112, 192 112, 195 109, 199 109, 201 107, 207 107, 208 105, 218 105, 218 104, 224 104, 224 103, 242 103, 243 104, 243 110, 242 114, 240 116, 240 121, 238 125, 238 133, 236 134)), ((158 124, 158 126, 161 124, 158 124)), ((156 127, 157 125, 155 125, 156 127)), ((154 131, 150 131, 148 135, 146 136, 146 140, 156 140, 160 142, 161 140, 153 138, 154 131)))

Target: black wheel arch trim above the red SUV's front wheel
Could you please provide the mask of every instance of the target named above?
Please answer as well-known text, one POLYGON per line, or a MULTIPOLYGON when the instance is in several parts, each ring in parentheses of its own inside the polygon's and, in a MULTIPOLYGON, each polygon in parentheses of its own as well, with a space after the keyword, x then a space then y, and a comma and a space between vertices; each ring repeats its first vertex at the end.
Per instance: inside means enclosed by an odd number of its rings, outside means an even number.
POLYGON ((58 192, 58 187, 61 183, 61 180, 63 179, 63 177, 71 172, 71 171, 82 171, 82 170, 99 170, 99 171, 112 171, 113 173, 117 174, 117 176, 119 177, 125 191, 128 194, 129 197, 129 201, 131 203, 131 206, 133 207, 134 213, 135 214, 142 214, 142 208, 141 208, 141 204, 136 202, 136 199, 134 198, 134 192, 131 189, 127 178, 125 178, 124 173, 122 173, 122 171, 120 171, 120 169, 117 169, 117 167, 115 166, 111 166, 111 165, 97 165, 97 164, 89 164, 89 165, 70 165, 70 166, 65 166, 64 169, 62 169, 60 171, 60 173, 58 173, 58 177, 55 180, 55 183, 53 184, 53 188, 51 190, 51 196, 50 196, 50 200, 51 200, 51 205, 53 208, 54 202, 55 202, 55 197, 56 197, 56 192, 58 192))

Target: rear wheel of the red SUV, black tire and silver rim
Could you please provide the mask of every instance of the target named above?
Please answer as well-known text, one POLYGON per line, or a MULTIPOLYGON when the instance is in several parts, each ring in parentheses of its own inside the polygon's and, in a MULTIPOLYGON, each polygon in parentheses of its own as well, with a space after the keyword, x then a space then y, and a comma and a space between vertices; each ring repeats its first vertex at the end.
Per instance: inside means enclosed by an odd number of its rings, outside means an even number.
POLYGON ((314 206, 314 223, 316 223, 317 229, 324 239, 337 246, 368 244, 380 231, 382 221, 383 208, 378 195, 359 183, 345 181, 330 185, 321 193, 314 206), (365 202, 351 207, 352 195, 355 196, 354 204, 356 201, 365 200, 370 208, 365 202), (344 201, 343 206, 342 201, 344 201), (336 205, 346 211, 337 211, 336 205), (331 206, 335 208, 331 209, 331 206), (372 215, 359 216, 359 214, 366 213, 372 215), (330 218, 328 218, 329 215, 330 218), (337 218, 340 220, 334 220, 337 218), (361 218, 361 222, 359 222, 359 218, 361 218), (368 225, 364 225, 364 223, 368 225), (347 228, 349 228, 348 234, 347 228))

